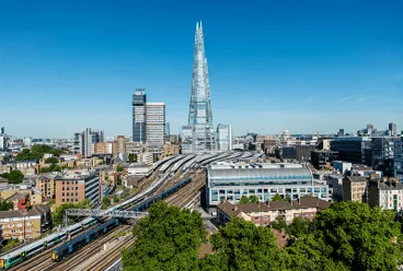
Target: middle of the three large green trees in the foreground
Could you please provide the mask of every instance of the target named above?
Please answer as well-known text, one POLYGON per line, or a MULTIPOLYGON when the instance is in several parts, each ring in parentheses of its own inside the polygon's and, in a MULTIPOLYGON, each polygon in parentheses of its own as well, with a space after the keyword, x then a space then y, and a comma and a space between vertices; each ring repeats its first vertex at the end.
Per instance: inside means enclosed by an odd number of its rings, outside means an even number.
POLYGON ((216 254, 202 262, 202 270, 284 270, 284 254, 269 227, 257 227, 234 217, 211 236, 216 254))

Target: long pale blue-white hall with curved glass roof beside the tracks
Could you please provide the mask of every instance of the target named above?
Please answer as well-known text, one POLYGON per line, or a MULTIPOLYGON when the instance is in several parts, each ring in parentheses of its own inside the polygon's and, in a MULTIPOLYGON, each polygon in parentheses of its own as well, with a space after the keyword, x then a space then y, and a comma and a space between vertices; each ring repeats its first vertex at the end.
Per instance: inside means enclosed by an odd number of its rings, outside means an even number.
POLYGON ((276 193, 292 200, 312 195, 330 200, 327 185, 313 180, 309 168, 299 164, 215 164, 207 167, 207 204, 222 200, 237 203, 242 196, 269 201, 276 193))

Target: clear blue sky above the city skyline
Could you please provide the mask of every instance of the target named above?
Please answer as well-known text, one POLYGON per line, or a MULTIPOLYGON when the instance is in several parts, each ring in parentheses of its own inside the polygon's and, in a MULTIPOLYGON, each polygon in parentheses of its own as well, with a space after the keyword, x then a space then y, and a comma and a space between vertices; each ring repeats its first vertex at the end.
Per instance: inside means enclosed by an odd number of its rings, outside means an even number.
POLYGON ((203 21, 215 123, 234 134, 403 129, 403 1, 0 1, 0 126, 131 136, 131 95, 186 125, 203 21))

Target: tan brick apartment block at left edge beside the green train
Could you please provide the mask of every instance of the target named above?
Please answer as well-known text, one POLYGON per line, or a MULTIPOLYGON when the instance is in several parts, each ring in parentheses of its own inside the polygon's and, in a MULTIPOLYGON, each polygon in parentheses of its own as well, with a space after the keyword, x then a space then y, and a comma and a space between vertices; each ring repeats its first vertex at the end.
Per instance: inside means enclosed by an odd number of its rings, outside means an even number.
POLYGON ((51 226, 50 209, 39 204, 25 211, 0 211, 0 225, 3 239, 36 239, 51 226))

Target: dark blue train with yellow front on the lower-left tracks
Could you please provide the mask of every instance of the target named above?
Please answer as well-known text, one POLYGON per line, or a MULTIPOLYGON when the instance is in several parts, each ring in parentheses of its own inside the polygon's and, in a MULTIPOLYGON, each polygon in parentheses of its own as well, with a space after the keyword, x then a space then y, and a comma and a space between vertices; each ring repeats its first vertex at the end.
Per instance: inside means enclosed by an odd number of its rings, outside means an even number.
POLYGON ((118 225, 119 225, 119 220, 112 219, 101 225, 95 226, 94 228, 90 229, 88 233, 82 234, 76 238, 72 238, 71 240, 60 245, 59 247, 55 248, 51 251, 51 260, 56 262, 61 261, 67 256, 73 254, 74 251, 79 250, 81 247, 96 239, 100 235, 104 235, 111 232, 113 228, 117 227, 118 225))

